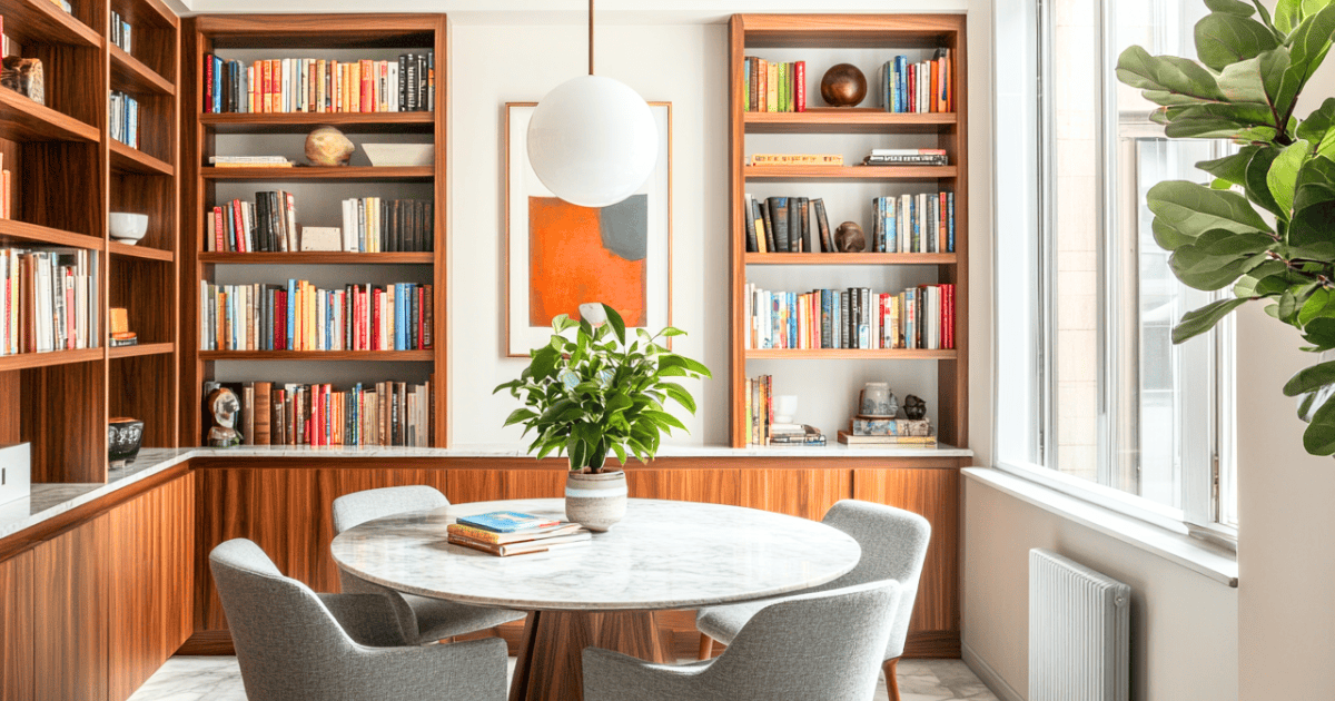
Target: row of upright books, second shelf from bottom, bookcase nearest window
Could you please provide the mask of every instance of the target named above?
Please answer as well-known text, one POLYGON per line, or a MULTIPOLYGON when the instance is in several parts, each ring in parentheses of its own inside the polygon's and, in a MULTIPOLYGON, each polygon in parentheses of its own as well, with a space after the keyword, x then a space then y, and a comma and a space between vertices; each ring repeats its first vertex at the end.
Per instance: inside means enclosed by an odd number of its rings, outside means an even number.
POLYGON ((953 348, 955 286, 782 292, 746 284, 746 348, 953 348))

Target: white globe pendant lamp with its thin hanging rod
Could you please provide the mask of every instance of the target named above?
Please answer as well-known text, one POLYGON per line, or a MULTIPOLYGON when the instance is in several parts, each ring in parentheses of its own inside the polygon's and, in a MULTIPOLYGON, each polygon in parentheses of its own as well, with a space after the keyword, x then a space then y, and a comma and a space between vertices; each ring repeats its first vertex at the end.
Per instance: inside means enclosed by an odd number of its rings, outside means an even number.
POLYGON ((607 207, 633 195, 654 170, 658 126, 635 91, 593 75, 593 0, 589 0, 589 75, 549 92, 529 120, 529 163, 555 196, 607 207))

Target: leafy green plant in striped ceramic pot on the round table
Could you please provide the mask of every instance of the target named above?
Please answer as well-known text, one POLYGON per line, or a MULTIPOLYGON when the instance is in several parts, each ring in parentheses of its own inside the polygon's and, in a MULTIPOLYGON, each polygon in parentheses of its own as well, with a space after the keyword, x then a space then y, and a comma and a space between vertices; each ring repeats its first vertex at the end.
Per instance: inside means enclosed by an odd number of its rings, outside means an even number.
POLYGON ((626 513, 626 474, 607 470, 609 457, 622 466, 634 455, 649 462, 662 434, 686 426, 663 410, 668 401, 696 413, 696 401, 669 378, 708 378, 709 369, 672 353, 662 339, 685 335, 666 327, 657 334, 626 324, 607 304, 581 304, 581 319, 551 320, 551 342, 529 353, 519 379, 498 385, 523 402, 505 425, 522 423, 534 433, 529 453, 565 454, 566 518, 589 530, 607 530, 626 513), (574 339, 562 334, 574 328, 574 339))

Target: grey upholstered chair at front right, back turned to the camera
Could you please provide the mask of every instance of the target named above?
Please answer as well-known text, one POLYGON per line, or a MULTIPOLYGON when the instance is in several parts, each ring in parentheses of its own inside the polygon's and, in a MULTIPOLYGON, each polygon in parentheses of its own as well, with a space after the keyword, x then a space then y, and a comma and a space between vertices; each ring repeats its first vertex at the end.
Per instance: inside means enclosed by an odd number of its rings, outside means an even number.
POLYGON ((585 701, 866 701, 900 601, 894 581, 764 606, 705 662, 655 665, 583 652, 585 701))

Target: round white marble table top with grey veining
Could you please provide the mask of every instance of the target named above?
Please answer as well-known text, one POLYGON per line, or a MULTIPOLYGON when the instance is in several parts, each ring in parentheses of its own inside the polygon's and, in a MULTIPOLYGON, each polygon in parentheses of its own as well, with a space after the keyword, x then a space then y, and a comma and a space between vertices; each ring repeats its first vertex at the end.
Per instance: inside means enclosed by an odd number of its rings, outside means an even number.
POLYGON ((411 594, 522 610, 651 610, 764 598, 852 570, 861 547, 805 518, 740 506, 630 499, 586 547, 494 557, 446 542, 459 515, 511 510, 565 519, 563 499, 446 506, 370 521, 331 546, 338 565, 411 594))

